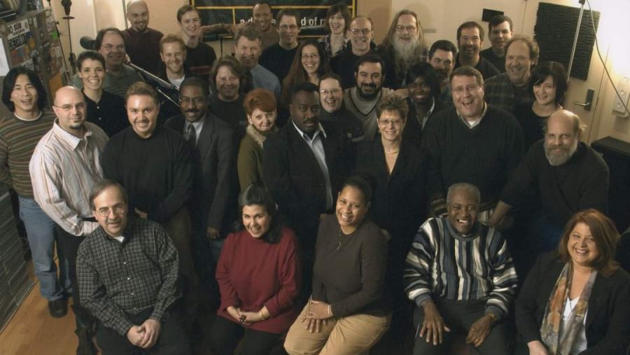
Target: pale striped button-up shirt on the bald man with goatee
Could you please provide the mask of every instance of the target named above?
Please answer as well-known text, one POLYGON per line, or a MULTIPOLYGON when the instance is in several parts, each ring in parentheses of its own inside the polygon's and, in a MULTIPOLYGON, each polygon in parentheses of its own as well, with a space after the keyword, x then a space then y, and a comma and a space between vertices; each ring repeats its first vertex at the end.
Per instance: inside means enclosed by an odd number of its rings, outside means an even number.
POLYGON ((66 232, 88 235, 98 227, 87 197, 103 179, 99 161, 107 134, 93 123, 85 123, 78 138, 59 126, 57 120, 39 141, 29 163, 35 200, 41 209, 66 232))

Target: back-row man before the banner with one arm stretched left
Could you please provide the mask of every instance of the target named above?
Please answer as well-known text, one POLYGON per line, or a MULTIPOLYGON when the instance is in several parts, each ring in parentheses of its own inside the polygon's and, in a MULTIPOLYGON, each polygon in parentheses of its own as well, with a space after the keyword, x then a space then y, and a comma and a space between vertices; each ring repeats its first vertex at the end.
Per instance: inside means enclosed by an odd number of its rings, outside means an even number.
POLYGON ((274 15, 269 3, 267 1, 256 1, 251 9, 251 12, 251 22, 244 21, 238 25, 231 23, 218 23, 215 25, 202 26, 201 30, 204 33, 228 33, 235 36, 235 34, 239 32, 239 29, 248 23, 253 22, 253 25, 255 25, 258 32, 260 32, 261 46, 263 50, 278 43, 280 36, 278 34, 276 24, 272 23, 274 15))

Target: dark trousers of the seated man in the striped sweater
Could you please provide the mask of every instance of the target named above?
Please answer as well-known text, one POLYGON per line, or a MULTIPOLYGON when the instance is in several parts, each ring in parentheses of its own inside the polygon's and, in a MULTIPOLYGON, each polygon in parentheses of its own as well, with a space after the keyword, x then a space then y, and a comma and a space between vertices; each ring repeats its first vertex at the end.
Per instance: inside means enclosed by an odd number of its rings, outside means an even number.
MULTIPOLYGON (((451 354, 449 347, 454 343, 454 339, 458 336, 465 338, 468 330, 477 319, 481 318, 485 312, 485 301, 449 301, 437 300, 437 310, 444 319, 444 323, 451 329, 450 333, 442 333, 444 340, 442 344, 433 345, 433 342, 426 342, 425 338, 417 335, 414 343, 414 355, 439 355, 451 354)), ((414 326, 419 329, 424 320, 424 310, 416 307, 414 310, 414 326)), ((470 355, 482 354, 511 354, 510 353, 510 336, 505 322, 499 321, 495 323, 486 340, 479 346, 474 347, 468 344, 470 355)))

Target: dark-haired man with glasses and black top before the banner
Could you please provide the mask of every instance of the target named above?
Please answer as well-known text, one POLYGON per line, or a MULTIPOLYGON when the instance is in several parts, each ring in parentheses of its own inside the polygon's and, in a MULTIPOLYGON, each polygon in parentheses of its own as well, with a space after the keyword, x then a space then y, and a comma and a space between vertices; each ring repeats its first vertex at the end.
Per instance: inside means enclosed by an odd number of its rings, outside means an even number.
POLYGON ((284 80, 297 52, 297 34, 300 33, 300 13, 293 8, 283 8, 276 15, 280 41, 262 51, 260 65, 284 80))

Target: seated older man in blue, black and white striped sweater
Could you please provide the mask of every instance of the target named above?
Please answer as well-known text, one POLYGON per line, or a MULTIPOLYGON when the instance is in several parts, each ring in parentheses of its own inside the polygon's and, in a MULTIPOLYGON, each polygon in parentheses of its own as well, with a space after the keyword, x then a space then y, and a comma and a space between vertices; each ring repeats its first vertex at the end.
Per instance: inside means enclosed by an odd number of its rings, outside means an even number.
POLYGON ((476 351, 509 354, 503 319, 514 300, 517 274, 505 238, 477 222, 479 189, 456 183, 448 190, 448 216, 430 218, 407 255, 405 292, 418 306, 414 355, 449 354, 456 333, 476 351))

